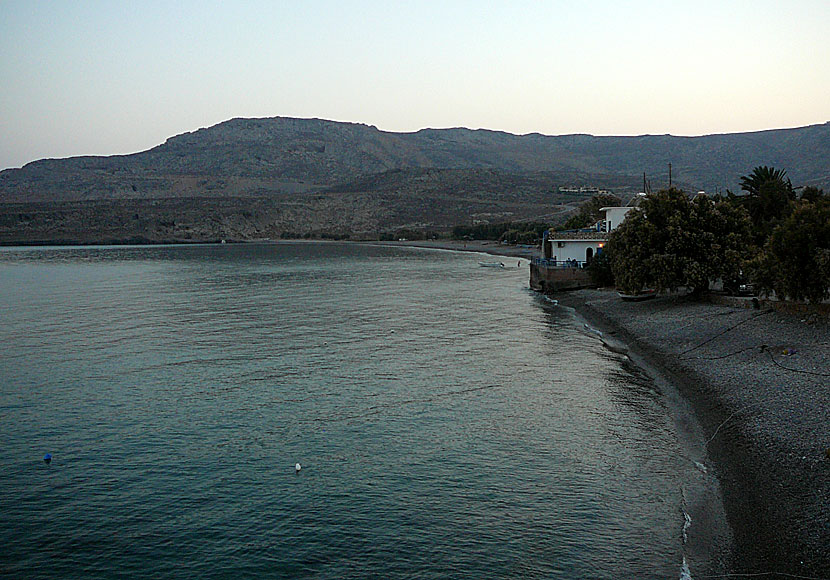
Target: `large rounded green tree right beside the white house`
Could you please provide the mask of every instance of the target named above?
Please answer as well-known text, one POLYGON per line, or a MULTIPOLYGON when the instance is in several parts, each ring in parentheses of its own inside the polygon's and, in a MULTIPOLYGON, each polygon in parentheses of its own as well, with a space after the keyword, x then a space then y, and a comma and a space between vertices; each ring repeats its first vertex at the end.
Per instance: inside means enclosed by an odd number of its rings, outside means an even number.
POLYGON ((739 207, 671 188, 643 198, 612 232, 606 251, 617 287, 694 294, 717 278, 736 277, 750 253, 750 222, 739 207))

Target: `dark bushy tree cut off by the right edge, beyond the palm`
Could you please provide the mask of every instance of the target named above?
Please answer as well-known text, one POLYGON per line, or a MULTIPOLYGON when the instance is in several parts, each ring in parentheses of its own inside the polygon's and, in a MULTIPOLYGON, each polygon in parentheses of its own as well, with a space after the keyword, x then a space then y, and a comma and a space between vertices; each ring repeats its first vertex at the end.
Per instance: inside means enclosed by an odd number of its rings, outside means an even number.
POLYGON ((766 294, 813 303, 830 298, 830 200, 799 204, 752 265, 753 279, 766 294))

